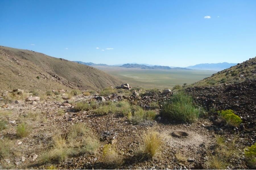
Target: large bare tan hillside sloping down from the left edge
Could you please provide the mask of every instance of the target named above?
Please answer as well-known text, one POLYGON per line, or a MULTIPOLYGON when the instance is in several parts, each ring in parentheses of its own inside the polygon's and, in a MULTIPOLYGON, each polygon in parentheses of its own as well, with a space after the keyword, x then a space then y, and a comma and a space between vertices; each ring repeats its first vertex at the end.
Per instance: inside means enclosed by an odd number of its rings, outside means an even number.
POLYGON ((98 90, 121 84, 93 67, 30 50, 0 46, 0 65, 1 90, 98 90))

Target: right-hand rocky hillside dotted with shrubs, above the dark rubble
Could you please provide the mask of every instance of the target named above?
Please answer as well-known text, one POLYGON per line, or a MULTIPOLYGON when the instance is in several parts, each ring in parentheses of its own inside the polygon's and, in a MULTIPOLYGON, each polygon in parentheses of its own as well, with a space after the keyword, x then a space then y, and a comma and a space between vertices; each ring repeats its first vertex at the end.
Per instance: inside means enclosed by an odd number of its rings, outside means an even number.
POLYGON ((218 86, 224 83, 242 82, 246 79, 256 78, 256 57, 229 69, 219 71, 210 77, 192 84, 193 86, 218 86))

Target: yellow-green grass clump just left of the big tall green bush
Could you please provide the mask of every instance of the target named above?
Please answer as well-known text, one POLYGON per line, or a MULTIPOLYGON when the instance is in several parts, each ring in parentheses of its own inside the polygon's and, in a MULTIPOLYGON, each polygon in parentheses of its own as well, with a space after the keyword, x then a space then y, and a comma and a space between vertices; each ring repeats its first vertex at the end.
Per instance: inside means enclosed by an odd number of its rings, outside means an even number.
POLYGON ((132 111, 128 113, 127 117, 133 124, 140 124, 146 120, 152 121, 156 117, 156 112, 154 111, 144 111, 139 106, 133 106, 132 111))

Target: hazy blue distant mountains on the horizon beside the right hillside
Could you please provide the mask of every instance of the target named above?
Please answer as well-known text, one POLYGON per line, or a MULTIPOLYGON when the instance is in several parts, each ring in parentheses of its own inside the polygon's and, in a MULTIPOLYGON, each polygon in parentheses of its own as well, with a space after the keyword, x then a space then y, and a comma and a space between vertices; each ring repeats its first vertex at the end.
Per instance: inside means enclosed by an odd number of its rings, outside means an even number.
POLYGON ((188 66, 186 68, 193 69, 193 70, 224 70, 228 69, 234 65, 237 65, 237 63, 204 63, 204 64, 197 64, 193 66, 188 66))

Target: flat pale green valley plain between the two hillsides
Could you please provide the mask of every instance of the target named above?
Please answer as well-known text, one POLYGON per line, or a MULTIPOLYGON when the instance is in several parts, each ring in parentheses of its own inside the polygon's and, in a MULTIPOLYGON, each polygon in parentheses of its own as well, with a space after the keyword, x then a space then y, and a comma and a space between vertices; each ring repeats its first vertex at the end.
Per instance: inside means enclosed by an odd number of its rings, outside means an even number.
POLYGON ((131 86, 143 88, 171 88, 184 83, 192 84, 203 78, 209 77, 217 71, 213 70, 148 70, 129 69, 110 66, 93 66, 113 75, 131 86))

